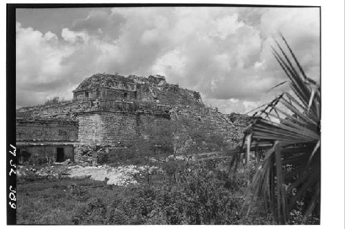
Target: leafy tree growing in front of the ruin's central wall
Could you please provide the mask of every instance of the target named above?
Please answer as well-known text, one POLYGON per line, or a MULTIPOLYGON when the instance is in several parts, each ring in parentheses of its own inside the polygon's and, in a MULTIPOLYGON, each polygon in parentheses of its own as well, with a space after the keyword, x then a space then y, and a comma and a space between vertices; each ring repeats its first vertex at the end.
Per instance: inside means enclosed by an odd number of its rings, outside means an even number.
MULTIPOLYGON (((226 146, 219 135, 207 135, 187 120, 160 120, 139 129, 139 136, 128 144, 141 164, 159 166, 177 182, 177 171, 186 168, 193 155, 226 146), (187 162, 184 162, 187 161, 187 162)), ((146 173, 148 181, 150 174, 146 173)))

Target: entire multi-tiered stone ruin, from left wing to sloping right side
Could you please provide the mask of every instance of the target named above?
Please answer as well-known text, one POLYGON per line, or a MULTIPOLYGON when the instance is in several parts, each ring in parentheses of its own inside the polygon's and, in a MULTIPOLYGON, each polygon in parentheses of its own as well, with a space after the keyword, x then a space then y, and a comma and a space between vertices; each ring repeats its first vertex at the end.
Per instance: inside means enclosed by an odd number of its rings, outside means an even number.
POLYGON ((121 149, 122 142, 135 138, 137 127, 161 119, 184 118, 210 135, 222 135, 231 146, 242 138, 233 116, 207 107, 199 92, 169 84, 164 76, 95 74, 72 93, 70 101, 17 110, 19 162, 34 157, 92 162, 99 151, 121 149))

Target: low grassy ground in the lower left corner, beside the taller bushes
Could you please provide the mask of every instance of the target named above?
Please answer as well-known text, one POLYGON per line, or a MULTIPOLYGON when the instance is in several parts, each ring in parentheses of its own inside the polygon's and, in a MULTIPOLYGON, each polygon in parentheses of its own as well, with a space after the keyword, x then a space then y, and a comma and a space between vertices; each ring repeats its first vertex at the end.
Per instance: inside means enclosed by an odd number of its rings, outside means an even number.
MULTIPOLYGON (((36 179, 17 182, 17 223, 73 224, 75 210, 92 195, 110 191, 90 179, 36 179)), ((121 187, 119 187, 121 188, 121 187)))

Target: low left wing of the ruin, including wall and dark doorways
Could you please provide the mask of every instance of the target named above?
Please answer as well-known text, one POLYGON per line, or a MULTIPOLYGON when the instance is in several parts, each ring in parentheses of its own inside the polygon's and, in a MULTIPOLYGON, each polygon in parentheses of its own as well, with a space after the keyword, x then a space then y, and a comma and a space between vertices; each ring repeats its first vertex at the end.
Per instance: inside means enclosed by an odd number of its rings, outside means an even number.
POLYGON ((19 163, 32 164, 74 160, 78 121, 70 118, 17 118, 19 163), (58 156, 59 152, 59 156, 58 156))

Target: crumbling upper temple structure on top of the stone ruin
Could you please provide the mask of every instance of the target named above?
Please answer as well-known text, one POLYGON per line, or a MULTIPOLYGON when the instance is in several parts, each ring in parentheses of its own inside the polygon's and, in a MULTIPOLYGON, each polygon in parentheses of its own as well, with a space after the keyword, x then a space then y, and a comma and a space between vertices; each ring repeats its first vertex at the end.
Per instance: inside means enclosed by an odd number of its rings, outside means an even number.
POLYGON ((196 91, 166 83, 164 76, 119 76, 95 74, 73 92, 73 100, 144 101, 164 105, 202 105, 196 91))

